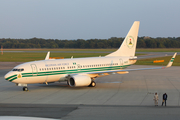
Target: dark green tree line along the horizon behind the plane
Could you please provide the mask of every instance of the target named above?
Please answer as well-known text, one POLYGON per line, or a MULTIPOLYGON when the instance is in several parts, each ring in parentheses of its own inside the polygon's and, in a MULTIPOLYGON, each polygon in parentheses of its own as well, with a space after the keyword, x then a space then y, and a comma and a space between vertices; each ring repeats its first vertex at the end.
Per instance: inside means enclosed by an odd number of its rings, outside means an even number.
MULTIPOLYGON (((3 48, 119 48, 124 38, 109 39, 11 39, 1 38, 3 48)), ((138 37, 137 48, 180 48, 180 37, 138 37)))

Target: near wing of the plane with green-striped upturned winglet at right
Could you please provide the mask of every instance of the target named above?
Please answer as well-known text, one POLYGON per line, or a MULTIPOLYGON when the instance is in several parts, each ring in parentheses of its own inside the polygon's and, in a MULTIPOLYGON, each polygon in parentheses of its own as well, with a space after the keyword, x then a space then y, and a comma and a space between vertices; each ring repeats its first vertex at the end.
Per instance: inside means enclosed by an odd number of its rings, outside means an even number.
POLYGON ((167 64, 167 66, 163 66, 163 67, 139 68, 139 69, 120 69, 120 70, 110 70, 110 71, 89 72, 89 73, 86 73, 86 74, 88 76, 92 77, 92 78, 95 78, 95 77, 102 77, 102 76, 106 76, 106 75, 109 75, 109 74, 115 74, 115 73, 126 74, 126 73, 129 73, 129 71, 164 69, 164 68, 168 68, 168 67, 172 66, 173 61, 174 61, 174 59, 176 57, 176 54, 177 53, 175 53, 173 55, 173 57, 171 58, 171 60, 167 64))

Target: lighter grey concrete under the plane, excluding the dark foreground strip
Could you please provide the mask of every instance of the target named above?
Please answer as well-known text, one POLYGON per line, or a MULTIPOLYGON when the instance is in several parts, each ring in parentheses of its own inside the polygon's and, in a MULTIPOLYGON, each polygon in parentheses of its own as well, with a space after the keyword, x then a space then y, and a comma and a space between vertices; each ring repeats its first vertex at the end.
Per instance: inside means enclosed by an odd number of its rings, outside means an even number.
MULTIPOLYGON (((151 66, 133 65, 129 68, 151 66)), ((8 70, 7 70, 8 71, 8 70)), ((167 92, 168 105, 179 106, 180 67, 133 71, 124 75, 97 78, 97 86, 69 87, 66 82, 28 85, 29 92, 4 80, 0 70, 0 103, 85 104, 85 105, 152 105, 153 95, 167 92), (170 98, 173 99, 170 99, 170 98)), ((161 101, 161 97, 160 97, 161 101)))

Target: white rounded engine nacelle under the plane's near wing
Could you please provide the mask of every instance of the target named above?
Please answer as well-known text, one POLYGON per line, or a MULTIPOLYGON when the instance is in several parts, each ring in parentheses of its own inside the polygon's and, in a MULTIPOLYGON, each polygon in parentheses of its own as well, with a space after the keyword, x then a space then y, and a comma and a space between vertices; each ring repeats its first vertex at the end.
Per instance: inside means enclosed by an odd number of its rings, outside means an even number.
POLYGON ((74 75, 70 77, 68 83, 71 87, 89 86, 91 84, 91 78, 85 75, 74 75))

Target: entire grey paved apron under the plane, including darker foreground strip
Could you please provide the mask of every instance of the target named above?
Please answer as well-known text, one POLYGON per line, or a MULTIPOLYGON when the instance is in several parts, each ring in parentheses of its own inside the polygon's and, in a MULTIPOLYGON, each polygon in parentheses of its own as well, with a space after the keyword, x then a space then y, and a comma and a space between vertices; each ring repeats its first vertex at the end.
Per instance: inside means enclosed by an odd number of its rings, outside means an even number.
MULTIPOLYGON (((29 91, 24 92, 22 87, 4 79, 10 66, 0 70, 0 116, 62 120, 176 120, 180 117, 180 67, 96 78, 96 87, 72 88, 66 82, 31 84, 29 91), (159 95, 157 107, 153 101, 155 92, 159 95), (165 92, 166 107, 161 106, 165 92)), ((154 66, 128 68, 146 67, 154 66)))

